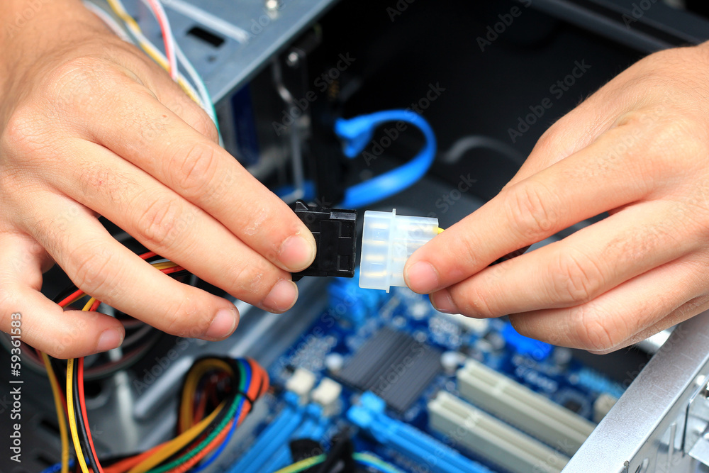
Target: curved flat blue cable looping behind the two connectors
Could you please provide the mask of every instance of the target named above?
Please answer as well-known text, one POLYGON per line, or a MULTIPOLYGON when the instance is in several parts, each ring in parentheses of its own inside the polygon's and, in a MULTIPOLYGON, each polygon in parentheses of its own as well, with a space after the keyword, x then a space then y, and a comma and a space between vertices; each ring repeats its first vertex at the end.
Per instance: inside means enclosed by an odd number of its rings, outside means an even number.
POLYGON ((428 122, 413 111, 385 110, 349 120, 338 118, 335 122, 335 133, 344 140, 345 155, 352 159, 364 151, 367 144, 372 141, 377 126, 391 121, 403 121, 419 128, 426 138, 423 150, 420 150, 418 155, 405 165, 347 189, 345 201, 340 204, 343 208, 358 208, 386 199, 410 187, 431 167, 436 155, 436 137, 428 122))

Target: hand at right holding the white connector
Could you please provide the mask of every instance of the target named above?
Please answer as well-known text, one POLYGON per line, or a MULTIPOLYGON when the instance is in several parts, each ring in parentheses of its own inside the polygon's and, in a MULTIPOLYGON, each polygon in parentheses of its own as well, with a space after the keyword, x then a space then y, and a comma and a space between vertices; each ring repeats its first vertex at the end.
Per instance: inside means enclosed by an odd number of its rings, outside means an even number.
POLYGON ((408 260, 440 311, 608 352, 709 308, 709 44, 633 65, 540 138, 494 199, 408 260), (586 218, 610 217, 499 265, 586 218))

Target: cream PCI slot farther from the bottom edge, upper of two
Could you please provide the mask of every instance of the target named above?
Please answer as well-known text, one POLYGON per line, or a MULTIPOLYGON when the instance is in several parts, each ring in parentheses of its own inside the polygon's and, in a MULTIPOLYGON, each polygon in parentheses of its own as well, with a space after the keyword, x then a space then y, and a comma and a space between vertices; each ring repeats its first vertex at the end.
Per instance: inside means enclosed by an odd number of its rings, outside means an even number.
POLYGON ((468 360, 457 378, 462 398, 566 455, 574 455, 596 427, 476 360, 468 360))

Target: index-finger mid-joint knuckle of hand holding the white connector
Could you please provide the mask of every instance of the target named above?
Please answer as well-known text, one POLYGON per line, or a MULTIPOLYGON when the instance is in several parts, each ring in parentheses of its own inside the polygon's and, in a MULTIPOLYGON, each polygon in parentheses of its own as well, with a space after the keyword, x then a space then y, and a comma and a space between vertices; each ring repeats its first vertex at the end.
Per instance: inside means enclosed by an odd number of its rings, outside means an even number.
POLYGON ((554 200, 538 182, 522 182, 510 189, 506 199, 508 218, 525 242, 536 242, 553 233, 559 218, 554 200))

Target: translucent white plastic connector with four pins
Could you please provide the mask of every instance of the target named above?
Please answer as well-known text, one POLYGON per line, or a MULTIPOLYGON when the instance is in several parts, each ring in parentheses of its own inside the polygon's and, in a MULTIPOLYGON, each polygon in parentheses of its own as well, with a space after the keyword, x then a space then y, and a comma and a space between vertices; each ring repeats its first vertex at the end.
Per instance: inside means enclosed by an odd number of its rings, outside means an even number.
POLYGON ((359 287, 389 292, 391 286, 406 286, 406 260, 438 231, 437 218, 399 216, 396 208, 364 212, 359 287))

